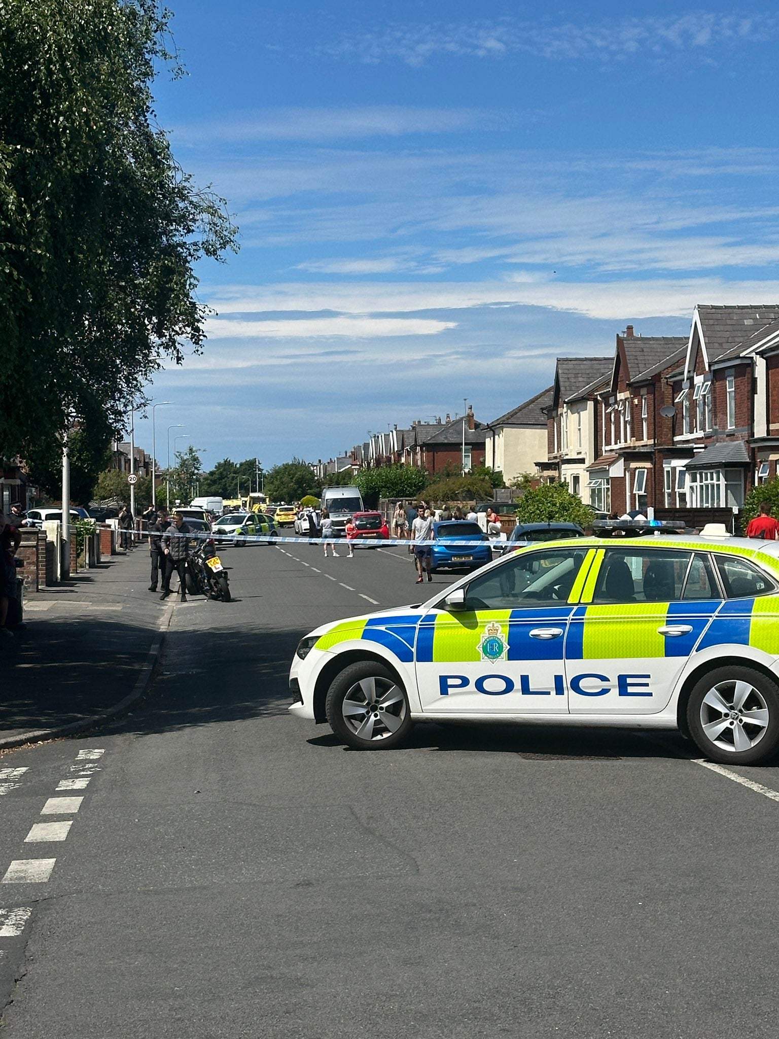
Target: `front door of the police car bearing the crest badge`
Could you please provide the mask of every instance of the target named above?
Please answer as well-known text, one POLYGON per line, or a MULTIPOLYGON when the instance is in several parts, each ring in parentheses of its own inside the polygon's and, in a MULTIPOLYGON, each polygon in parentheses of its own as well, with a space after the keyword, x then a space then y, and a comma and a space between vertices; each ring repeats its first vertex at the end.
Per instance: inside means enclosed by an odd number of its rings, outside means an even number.
POLYGON ((425 711, 565 714, 564 647, 595 550, 544 548, 476 576, 465 609, 432 609, 417 633, 425 711))

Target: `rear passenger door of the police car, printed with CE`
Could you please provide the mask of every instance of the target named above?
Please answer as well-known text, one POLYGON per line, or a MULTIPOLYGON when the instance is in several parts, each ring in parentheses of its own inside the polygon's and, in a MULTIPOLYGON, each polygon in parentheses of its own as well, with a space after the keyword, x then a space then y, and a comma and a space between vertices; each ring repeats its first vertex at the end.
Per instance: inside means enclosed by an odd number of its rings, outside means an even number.
POLYGON ((707 553, 598 552, 568 627, 571 714, 656 714, 721 606, 707 553))

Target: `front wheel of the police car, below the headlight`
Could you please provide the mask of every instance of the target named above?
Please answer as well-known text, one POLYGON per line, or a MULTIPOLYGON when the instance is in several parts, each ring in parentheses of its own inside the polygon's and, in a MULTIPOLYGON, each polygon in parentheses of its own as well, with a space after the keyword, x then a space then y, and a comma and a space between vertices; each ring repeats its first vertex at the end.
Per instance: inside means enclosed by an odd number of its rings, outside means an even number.
POLYGON ((329 688, 326 711, 335 736, 356 750, 397 747, 411 727, 405 689, 374 661, 344 668, 329 688))

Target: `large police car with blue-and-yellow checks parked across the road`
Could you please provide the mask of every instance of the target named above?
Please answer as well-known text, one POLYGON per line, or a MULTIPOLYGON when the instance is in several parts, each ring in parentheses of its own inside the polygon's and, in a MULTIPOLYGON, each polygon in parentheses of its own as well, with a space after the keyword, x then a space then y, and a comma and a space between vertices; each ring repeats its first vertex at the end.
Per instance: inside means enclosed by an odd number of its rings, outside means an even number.
POLYGON ((530 545, 420 606, 302 639, 291 712, 351 747, 415 720, 676 729, 711 761, 779 743, 779 543, 655 534, 530 545))

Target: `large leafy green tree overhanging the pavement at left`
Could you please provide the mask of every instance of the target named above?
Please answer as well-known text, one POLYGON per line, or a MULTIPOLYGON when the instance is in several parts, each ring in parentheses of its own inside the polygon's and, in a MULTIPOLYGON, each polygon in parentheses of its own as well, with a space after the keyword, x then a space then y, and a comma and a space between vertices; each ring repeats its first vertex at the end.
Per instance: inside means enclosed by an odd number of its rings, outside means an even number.
POLYGON ((95 398, 116 429, 208 308, 195 265, 235 247, 156 125, 179 69, 157 0, 0 7, 0 455, 54 444, 95 398))

